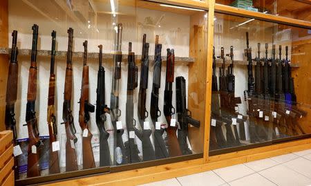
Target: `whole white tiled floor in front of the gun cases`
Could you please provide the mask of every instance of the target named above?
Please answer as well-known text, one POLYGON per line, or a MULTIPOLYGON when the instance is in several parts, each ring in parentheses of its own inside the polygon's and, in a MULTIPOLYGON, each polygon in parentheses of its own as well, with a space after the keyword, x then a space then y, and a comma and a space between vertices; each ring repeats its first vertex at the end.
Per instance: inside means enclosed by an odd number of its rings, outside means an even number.
POLYGON ((311 149, 144 186, 311 186, 311 149))

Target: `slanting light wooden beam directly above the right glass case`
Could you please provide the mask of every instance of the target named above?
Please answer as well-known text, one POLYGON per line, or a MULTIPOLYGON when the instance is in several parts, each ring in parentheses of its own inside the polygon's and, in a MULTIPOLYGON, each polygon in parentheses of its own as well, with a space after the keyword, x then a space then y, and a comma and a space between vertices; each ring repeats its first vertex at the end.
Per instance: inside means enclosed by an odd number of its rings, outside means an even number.
POLYGON ((285 24, 289 26, 298 26, 301 28, 311 28, 311 22, 309 21, 302 21, 299 19, 292 19, 288 17, 281 17, 277 15, 269 15, 264 14, 262 12, 254 12, 250 10, 245 10, 242 8, 236 8, 232 6, 225 6, 222 4, 215 4, 215 12, 224 13, 227 15, 236 15, 241 17, 247 17, 252 19, 258 19, 262 21, 270 21, 277 24, 285 24))

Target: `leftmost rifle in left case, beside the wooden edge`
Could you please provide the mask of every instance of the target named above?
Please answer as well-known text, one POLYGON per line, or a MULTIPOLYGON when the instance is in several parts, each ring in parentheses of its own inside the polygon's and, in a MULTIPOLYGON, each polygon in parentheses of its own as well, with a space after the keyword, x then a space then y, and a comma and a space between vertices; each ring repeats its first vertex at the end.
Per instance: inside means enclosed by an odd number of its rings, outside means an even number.
MULTIPOLYGON (((8 70, 8 82, 6 84, 6 116, 4 121, 6 123, 6 129, 13 132, 12 142, 15 146, 18 145, 15 120, 15 102, 17 100, 17 82, 19 73, 19 66, 17 64, 18 53, 19 49, 17 48, 17 30, 13 30, 11 59, 8 70)), ((14 158, 14 171, 15 179, 19 179, 19 167, 17 157, 14 158)))

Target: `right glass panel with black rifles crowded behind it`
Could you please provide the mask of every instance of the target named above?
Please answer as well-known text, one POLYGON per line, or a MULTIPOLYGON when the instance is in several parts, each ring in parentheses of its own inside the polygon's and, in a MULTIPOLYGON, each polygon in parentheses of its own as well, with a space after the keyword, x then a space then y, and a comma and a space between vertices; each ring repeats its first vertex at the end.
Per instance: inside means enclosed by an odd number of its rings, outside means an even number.
POLYGON ((211 154, 308 136, 308 30, 218 13, 214 25, 211 154))

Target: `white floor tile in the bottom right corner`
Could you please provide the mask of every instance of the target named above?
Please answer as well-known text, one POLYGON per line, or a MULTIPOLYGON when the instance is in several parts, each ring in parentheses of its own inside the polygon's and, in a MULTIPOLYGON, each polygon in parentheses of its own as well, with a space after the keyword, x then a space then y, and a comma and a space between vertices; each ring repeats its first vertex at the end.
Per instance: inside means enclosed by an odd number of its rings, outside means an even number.
POLYGON ((285 165, 276 165, 269 169, 259 171, 258 173, 279 186, 306 186, 311 184, 311 180, 309 178, 286 167, 285 165))

